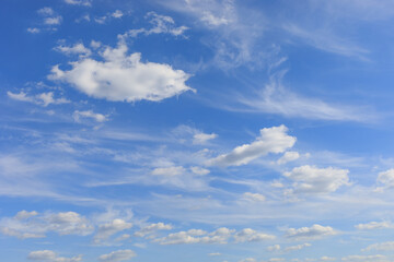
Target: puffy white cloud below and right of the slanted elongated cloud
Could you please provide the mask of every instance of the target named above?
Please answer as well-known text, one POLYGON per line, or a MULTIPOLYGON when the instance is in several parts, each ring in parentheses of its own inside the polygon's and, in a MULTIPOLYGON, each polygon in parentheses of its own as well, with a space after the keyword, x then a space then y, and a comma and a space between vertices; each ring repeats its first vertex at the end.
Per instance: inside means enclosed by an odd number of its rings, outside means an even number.
POLYGON ((333 167, 317 168, 314 166, 296 167, 285 177, 294 181, 294 193, 331 193, 341 186, 349 186, 349 170, 333 167))

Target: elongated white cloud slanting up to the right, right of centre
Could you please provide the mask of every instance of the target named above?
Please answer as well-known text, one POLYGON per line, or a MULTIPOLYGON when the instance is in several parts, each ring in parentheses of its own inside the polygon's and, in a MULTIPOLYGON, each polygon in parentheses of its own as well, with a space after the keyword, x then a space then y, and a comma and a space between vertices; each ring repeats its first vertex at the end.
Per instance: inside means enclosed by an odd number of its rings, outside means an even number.
POLYGON ((210 159, 207 164, 241 166, 268 153, 282 153, 296 143, 296 138, 288 135, 287 131, 285 126, 264 128, 255 142, 237 146, 231 153, 210 159))

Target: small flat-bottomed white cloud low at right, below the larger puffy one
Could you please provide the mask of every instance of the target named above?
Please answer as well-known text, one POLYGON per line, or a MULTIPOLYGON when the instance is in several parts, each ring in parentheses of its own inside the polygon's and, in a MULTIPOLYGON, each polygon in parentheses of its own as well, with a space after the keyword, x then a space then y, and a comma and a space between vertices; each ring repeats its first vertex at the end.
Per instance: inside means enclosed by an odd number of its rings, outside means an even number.
POLYGON ((329 226, 321 226, 314 224, 312 227, 301 227, 301 228, 289 228, 286 233, 286 237, 290 239, 317 239, 326 236, 336 235, 337 231, 329 226))

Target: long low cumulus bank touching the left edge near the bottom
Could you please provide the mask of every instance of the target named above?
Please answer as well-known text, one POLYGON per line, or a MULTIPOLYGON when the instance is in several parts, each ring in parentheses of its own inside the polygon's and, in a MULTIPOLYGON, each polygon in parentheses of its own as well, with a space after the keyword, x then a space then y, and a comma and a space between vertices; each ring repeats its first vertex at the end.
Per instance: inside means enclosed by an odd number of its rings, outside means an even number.
POLYGON ((86 236, 94 230, 93 225, 76 212, 46 213, 19 212, 14 217, 4 217, 0 221, 0 231, 3 235, 21 239, 43 238, 46 233, 58 235, 86 236))

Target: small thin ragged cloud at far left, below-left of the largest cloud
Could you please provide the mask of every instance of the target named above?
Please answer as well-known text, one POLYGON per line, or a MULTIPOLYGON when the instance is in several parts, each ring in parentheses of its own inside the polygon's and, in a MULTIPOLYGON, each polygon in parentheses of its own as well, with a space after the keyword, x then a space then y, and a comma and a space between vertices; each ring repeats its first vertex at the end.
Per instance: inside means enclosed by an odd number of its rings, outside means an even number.
POLYGON ((19 94, 7 92, 7 95, 14 100, 21 100, 21 102, 30 102, 36 105, 40 105, 44 107, 47 107, 50 104, 54 105, 61 105, 61 104, 68 104, 70 100, 61 97, 61 98, 54 98, 54 92, 48 93, 42 93, 34 96, 28 96, 24 92, 20 92, 19 94))

